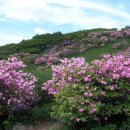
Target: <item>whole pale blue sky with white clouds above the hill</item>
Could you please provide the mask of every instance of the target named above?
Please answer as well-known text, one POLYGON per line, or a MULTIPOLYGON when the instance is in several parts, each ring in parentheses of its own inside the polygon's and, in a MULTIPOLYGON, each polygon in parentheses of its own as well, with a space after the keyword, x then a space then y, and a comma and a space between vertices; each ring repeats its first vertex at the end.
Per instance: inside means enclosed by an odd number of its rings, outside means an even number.
POLYGON ((0 0, 0 46, 36 34, 130 25, 130 0, 0 0))

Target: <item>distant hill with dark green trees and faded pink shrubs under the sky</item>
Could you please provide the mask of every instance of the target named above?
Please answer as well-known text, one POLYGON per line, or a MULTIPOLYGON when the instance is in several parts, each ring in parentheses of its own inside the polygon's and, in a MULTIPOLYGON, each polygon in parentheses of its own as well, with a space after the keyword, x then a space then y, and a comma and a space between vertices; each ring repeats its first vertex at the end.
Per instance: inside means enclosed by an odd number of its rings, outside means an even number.
MULTIPOLYGON (((53 34, 47 33, 42 35, 37 34, 33 36, 32 39, 22 40, 18 44, 12 43, 0 47, 0 59, 7 58, 15 53, 43 55, 58 52, 60 55, 66 57, 78 55, 82 56, 82 54, 89 52, 89 49, 91 48, 95 48, 95 50, 96 48, 104 49, 109 43, 111 45, 111 49, 113 48, 114 44, 122 42, 122 40, 125 40, 125 42, 129 43, 128 40, 130 36, 126 36, 125 30, 128 31, 128 29, 117 31, 116 28, 98 28, 66 34, 62 34, 61 32, 55 32, 53 34), (123 35, 123 37, 116 37, 114 34, 112 36, 112 33, 119 33, 119 35, 123 35)), ((120 47, 116 48, 117 50, 112 52, 119 51, 120 49, 128 46, 128 44, 121 44, 120 47)))

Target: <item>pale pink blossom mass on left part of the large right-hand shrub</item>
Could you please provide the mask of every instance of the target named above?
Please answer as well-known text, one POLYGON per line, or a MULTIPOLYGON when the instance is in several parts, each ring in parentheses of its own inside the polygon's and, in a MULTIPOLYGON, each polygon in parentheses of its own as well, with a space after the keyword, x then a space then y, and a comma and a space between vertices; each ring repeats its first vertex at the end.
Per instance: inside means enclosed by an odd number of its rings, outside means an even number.
POLYGON ((82 80, 89 66, 84 58, 72 58, 61 60, 58 66, 52 66, 52 79, 43 84, 43 89, 48 90, 49 94, 56 94, 64 87, 82 80))

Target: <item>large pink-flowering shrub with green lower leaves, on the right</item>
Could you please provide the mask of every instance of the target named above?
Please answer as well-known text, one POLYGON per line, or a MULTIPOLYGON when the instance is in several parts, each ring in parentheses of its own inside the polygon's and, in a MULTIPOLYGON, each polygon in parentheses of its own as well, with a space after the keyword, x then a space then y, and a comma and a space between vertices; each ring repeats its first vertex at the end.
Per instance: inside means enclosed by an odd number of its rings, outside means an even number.
POLYGON ((62 60, 43 89, 55 96, 54 118, 107 124, 130 112, 129 79, 130 59, 106 54, 90 64, 83 58, 62 60))

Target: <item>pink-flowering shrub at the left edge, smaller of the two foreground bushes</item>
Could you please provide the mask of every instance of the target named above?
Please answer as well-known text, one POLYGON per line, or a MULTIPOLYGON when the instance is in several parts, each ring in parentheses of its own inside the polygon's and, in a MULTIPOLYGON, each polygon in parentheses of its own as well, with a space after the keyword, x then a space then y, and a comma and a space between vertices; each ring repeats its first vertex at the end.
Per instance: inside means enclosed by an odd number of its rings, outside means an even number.
POLYGON ((26 109, 36 101, 37 79, 24 68, 16 57, 0 61, 0 106, 6 110, 26 109))

